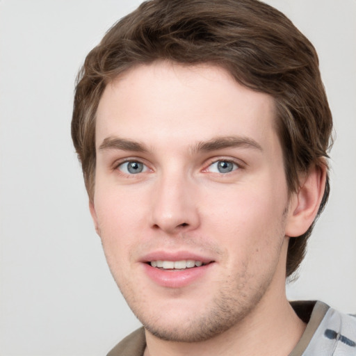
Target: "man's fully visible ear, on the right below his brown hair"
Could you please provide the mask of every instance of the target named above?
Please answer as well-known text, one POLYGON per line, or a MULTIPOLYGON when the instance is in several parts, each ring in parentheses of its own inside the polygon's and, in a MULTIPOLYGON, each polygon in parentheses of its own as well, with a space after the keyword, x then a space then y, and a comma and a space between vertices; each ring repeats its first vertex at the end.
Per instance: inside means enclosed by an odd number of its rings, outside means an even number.
POLYGON ((325 165, 312 167, 300 179, 300 188, 297 193, 293 193, 289 203, 286 236, 300 236, 312 225, 323 198, 325 181, 325 165))

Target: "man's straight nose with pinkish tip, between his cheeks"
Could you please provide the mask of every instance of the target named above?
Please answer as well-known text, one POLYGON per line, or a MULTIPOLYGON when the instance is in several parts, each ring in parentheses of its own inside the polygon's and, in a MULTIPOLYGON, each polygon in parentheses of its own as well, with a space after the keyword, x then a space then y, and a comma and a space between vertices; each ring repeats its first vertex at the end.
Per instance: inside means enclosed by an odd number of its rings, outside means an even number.
POLYGON ((152 228, 179 234, 200 225, 197 190, 184 175, 165 175, 156 181, 152 197, 152 228))

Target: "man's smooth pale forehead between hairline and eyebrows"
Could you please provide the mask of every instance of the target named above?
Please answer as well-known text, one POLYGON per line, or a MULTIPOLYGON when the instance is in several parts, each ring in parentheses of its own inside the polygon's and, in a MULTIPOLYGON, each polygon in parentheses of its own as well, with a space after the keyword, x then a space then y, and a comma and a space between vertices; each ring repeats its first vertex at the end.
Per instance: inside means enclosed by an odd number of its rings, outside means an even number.
POLYGON ((182 145, 212 136, 275 139, 273 98, 223 68, 155 62, 108 83, 97 110, 97 146, 110 136, 182 145))

